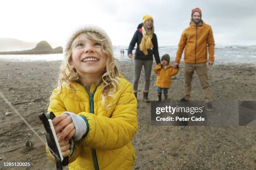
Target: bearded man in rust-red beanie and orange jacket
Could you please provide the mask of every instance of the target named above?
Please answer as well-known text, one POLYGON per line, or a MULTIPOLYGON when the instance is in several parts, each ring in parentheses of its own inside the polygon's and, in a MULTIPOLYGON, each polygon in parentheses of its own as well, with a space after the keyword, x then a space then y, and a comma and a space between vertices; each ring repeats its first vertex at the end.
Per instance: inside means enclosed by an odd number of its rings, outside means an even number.
POLYGON ((208 111, 212 111, 212 92, 208 83, 207 65, 214 62, 214 39, 210 25, 202 21, 202 11, 197 7, 192 10, 189 27, 182 32, 179 47, 173 67, 176 68, 184 53, 184 97, 181 101, 189 101, 191 81, 194 71, 200 80, 205 95, 205 104, 208 111), (207 59, 207 47, 209 58, 207 59))

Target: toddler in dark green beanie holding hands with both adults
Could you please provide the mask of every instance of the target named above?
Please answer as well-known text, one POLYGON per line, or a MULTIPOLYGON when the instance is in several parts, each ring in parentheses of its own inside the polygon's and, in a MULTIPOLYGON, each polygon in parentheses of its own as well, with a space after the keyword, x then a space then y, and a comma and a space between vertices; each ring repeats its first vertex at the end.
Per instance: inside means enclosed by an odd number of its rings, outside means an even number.
POLYGON ((167 101, 168 89, 171 87, 172 76, 177 75, 179 68, 173 68, 170 65, 170 56, 165 54, 161 58, 161 64, 154 68, 158 75, 156 80, 158 101, 161 101, 162 89, 164 90, 164 100, 167 101))

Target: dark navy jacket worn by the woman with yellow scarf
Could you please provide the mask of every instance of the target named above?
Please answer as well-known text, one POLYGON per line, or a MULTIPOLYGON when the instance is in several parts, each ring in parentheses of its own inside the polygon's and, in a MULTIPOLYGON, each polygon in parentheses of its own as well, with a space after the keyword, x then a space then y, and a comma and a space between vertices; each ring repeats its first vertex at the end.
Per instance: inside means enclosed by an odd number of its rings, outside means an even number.
POLYGON ((153 34, 153 37, 152 37, 152 43, 154 47, 153 49, 148 49, 148 55, 144 55, 143 51, 140 50, 139 45, 141 44, 141 39, 143 37, 142 33, 140 32, 142 26, 143 26, 143 23, 139 24, 136 32, 133 35, 133 38, 128 47, 128 55, 132 53, 132 50, 137 42, 137 48, 135 50, 134 59, 135 60, 153 60, 153 55, 154 55, 156 63, 159 64, 161 63, 161 61, 159 58, 158 43, 157 43, 157 38, 155 33, 153 34))

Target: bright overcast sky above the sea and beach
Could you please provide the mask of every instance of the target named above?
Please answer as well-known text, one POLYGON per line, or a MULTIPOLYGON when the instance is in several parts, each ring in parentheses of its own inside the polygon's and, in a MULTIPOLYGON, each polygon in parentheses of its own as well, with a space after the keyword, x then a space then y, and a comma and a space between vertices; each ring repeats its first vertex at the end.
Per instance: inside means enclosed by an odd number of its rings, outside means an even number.
MULTIPOLYGON (((160 45, 177 45, 192 8, 212 26, 215 44, 256 45, 256 0, 8 0, 0 2, 0 37, 62 45, 77 25, 102 27, 113 45, 129 44, 144 15, 160 45)), ((53 45, 53 46, 54 46, 53 45)))

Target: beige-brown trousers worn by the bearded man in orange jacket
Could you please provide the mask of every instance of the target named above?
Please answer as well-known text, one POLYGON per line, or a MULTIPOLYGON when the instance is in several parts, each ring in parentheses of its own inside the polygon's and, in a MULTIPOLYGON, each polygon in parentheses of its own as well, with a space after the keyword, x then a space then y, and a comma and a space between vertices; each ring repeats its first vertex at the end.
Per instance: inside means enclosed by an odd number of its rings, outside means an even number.
POLYGON ((204 91, 205 102, 212 101, 212 92, 208 83, 207 65, 206 62, 202 63, 184 63, 184 98, 189 100, 191 92, 191 82, 194 74, 194 70, 197 72, 197 76, 200 80, 201 87, 204 91))

